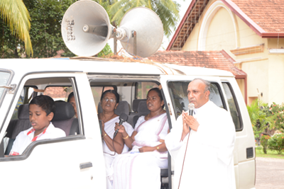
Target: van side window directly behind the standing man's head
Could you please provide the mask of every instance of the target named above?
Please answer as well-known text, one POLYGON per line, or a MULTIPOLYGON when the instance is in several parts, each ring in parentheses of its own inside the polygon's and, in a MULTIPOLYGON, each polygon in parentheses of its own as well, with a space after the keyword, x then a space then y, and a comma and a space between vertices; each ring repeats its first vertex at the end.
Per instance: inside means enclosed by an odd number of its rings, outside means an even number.
MULTIPOLYGON (((169 81, 168 88, 170 91, 170 98, 172 99, 173 106, 175 109, 175 118, 178 118, 182 113, 182 110, 188 110, 188 99, 187 99, 187 86, 190 81, 169 81)), ((210 84, 210 96, 209 100, 214 102, 220 108, 226 109, 224 103, 224 98, 222 97, 222 92, 220 86, 217 83, 212 82, 210 84)))

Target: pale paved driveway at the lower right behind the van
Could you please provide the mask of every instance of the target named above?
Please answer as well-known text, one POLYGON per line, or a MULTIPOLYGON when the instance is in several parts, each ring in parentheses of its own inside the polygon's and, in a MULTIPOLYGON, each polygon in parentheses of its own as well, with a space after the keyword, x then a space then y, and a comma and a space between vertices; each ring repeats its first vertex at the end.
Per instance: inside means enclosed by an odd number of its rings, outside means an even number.
POLYGON ((256 157, 256 189, 284 189, 284 159, 256 157))

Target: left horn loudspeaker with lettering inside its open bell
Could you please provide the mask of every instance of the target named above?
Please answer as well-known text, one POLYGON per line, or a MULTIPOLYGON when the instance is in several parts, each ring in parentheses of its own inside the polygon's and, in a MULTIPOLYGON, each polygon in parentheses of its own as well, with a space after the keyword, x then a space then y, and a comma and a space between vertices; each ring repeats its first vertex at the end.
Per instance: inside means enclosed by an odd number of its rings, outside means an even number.
POLYGON ((65 12, 61 25, 62 38, 75 55, 97 55, 112 33, 109 16, 95 1, 81 0, 65 12))

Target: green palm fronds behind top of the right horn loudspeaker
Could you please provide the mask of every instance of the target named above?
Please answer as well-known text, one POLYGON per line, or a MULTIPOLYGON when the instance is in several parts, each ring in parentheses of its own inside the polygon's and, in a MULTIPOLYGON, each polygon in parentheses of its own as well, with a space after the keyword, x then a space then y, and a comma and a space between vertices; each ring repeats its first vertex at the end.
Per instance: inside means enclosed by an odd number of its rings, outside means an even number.
POLYGON ((170 28, 175 28, 175 23, 179 18, 180 4, 172 0, 112 0, 109 2, 111 4, 110 13, 113 16, 111 22, 117 25, 131 8, 143 6, 152 9, 160 17, 167 37, 172 33, 170 28))

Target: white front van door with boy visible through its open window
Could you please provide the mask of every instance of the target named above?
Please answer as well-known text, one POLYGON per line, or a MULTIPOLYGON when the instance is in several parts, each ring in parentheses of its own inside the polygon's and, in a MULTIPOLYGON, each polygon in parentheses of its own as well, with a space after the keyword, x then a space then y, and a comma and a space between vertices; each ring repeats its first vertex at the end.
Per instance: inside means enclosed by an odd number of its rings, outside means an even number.
MULTIPOLYGON (((0 158, 2 188, 106 188, 102 140, 89 81, 84 73, 29 74, 18 83, 6 120, 5 132, 24 86, 72 86, 80 132, 58 139, 32 142, 23 154, 0 158)), ((63 88, 62 88, 63 89, 63 88)), ((9 96, 10 94, 6 94, 9 96)))

